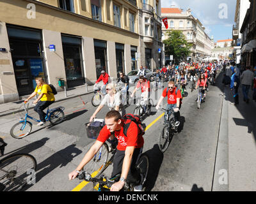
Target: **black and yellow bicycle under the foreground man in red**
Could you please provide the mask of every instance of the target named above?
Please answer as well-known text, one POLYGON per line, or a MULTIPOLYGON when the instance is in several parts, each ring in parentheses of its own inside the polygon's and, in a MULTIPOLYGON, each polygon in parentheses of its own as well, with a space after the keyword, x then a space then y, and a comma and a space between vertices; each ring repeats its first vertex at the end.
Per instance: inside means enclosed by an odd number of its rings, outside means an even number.
MULTIPOLYGON (((148 167, 149 167, 149 162, 148 162, 148 156, 147 154, 141 154, 140 159, 138 159, 138 162, 136 164, 136 168, 140 173, 143 175, 143 180, 141 181, 141 185, 143 186, 143 191, 145 191, 145 184, 147 181, 147 176, 148 176, 148 167)), ((98 191, 110 191, 110 187, 115 183, 120 180, 121 174, 119 173, 118 175, 115 175, 113 178, 108 178, 105 177, 104 175, 101 175, 100 177, 93 177, 90 175, 90 173, 87 173, 86 171, 82 171, 78 175, 79 180, 86 180, 86 182, 93 182, 93 190, 97 189, 98 191), (96 185, 99 183, 99 185, 96 185)), ((125 185, 122 189, 122 191, 134 191, 134 184, 129 184, 125 182, 125 185)))

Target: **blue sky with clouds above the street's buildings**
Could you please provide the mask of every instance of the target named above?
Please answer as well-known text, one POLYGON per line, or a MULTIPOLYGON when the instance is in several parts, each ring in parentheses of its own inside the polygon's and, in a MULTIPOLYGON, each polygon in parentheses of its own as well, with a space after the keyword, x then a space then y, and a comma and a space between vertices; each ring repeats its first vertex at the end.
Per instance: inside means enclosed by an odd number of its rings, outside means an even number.
POLYGON ((205 27, 205 33, 214 42, 232 39, 232 26, 235 24, 236 0, 161 0, 162 8, 191 9, 193 17, 198 18, 205 27))

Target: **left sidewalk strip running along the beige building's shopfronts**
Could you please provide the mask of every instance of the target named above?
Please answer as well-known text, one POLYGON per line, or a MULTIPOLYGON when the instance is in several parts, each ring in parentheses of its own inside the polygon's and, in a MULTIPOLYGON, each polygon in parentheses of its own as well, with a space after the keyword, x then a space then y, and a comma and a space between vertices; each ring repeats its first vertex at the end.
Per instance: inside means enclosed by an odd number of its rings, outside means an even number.
MULTIPOLYGON (((87 86, 88 91, 86 91, 85 85, 82 85, 80 87, 72 88, 67 91, 67 97, 65 96, 65 91, 58 92, 55 97, 55 101, 63 101, 70 98, 75 98, 77 96, 83 96, 86 94, 90 94, 93 92, 93 85, 87 86)), ((24 97, 25 99, 26 97, 24 97)), ((9 103, 3 103, 0 104, 0 117, 3 117, 4 115, 10 115, 13 113, 19 112, 20 105, 24 101, 24 99, 20 101, 13 101, 9 103)), ((33 108, 33 107, 30 107, 33 108)))

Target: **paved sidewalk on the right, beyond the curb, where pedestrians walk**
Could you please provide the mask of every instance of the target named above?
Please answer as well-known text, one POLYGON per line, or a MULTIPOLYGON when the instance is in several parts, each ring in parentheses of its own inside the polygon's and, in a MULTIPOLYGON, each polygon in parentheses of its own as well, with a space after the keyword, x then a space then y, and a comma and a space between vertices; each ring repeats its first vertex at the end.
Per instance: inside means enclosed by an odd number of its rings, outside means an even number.
POLYGON ((243 101, 239 87, 239 105, 234 106, 233 94, 225 87, 228 101, 228 191, 256 191, 256 103, 243 101))

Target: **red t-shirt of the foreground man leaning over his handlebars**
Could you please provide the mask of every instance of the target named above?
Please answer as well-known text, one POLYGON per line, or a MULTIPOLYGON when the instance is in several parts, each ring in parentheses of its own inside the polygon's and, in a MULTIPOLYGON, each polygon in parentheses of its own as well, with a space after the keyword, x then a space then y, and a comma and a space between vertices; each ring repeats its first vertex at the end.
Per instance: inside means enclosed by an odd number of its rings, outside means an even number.
MULTIPOLYGON (((122 120, 122 128, 120 131, 115 131, 115 137, 118 140, 117 149, 118 150, 125 150, 126 147, 135 147, 135 148, 141 148, 144 144, 144 139, 142 135, 138 135, 138 126, 135 122, 131 122, 129 125, 129 128, 127 129, 127 136, 124 135, 124 120, 122 120)), ((100 134, 97 138, 100 142, 106 142, 108 140, 109 136, 111 136, 111 133, 107 126, 104 126, 100 134)))

